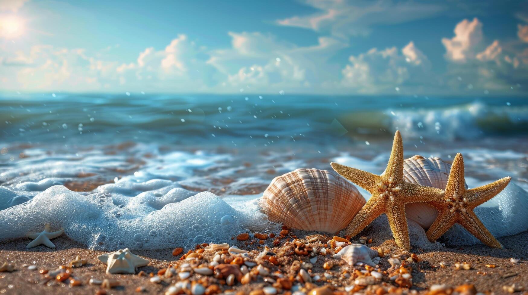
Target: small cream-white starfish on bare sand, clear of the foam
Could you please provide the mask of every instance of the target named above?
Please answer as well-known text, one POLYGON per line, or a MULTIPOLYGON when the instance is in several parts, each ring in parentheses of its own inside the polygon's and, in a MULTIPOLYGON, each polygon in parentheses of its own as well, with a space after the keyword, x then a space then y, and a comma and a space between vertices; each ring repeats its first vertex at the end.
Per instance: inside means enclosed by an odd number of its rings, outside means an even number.
POLYGON ((136 273, 137 267, 149 263, 148 260, 132 254, 128 248, 101 254, 97 258, 107 264, 106 273, 136 273))

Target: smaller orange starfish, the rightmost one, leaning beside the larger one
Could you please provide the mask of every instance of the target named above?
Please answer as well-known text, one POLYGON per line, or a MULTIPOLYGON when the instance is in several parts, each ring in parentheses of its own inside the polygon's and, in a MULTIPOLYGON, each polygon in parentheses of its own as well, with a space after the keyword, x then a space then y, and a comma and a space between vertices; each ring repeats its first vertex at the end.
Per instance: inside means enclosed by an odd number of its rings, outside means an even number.
POLYGON ((444 199, 429 202, 439 210, 438 217, 426 233, 429 241, 436 241, 455 223, 459 223, 489 247, 503 248, 501 243, 484 227, 473 210, 501 192, 511 179, 511 177, 505 177, 490 184, 466 190, 464 159, 462 154, 458 153, 451 165, 444 199))

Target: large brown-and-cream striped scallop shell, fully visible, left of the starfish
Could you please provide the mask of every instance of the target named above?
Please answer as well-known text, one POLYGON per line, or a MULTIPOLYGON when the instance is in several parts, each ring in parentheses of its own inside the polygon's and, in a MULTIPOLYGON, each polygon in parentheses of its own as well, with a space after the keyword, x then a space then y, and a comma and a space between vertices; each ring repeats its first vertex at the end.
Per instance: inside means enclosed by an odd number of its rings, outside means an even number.
POLYGON ((270 221, 328 233, 345 228, 364 204, 352 183, 318 169, 297 169, 277 176, 260 201, 270 221))

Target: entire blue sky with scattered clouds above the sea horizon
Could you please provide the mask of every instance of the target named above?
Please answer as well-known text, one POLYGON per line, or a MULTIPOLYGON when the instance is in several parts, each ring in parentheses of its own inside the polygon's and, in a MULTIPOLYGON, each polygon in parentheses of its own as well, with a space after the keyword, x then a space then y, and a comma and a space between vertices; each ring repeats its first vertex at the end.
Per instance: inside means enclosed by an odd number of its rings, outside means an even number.
POLYGON ((520 1, 0 4, 0 91, 523 94, 520 1))

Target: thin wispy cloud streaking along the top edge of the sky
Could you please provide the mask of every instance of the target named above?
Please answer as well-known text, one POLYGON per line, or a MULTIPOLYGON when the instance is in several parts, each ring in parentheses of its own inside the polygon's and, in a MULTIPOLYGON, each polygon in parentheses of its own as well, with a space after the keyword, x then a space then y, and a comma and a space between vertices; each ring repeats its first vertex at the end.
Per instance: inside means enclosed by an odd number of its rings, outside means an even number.
POLYGON ((319 12, 280 19, 277 23, 329 32, 344 38, 369 34, 374 25, 410 22, 436 15, 447 8, 444 5, 416 1, 303 0, 302 2, 318 9, 319 12))

